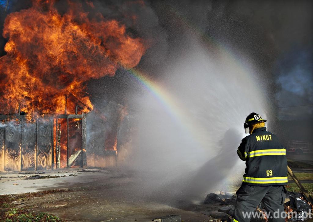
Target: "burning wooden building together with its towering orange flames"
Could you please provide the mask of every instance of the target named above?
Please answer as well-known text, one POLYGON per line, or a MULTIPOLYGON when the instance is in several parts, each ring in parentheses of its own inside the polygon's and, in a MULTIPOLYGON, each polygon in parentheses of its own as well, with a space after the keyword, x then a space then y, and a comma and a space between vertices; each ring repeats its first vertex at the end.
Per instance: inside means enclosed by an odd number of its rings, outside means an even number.
POLYGON ((60 12, 56 1, 35 0, 5 19, 0 171, 107 167, 125 155, 118 153, 118 135, 131 115, 113 102, 95 111, 86 82, 135 67, 146 46, 119 21, 97 13, 92 3, 67 5, 60 12), (110 130, 105 127, 99 134, 103 146, 92 139, 87 144, 93 128, 86 130, 86 115, 92 110, 104 125, 110 123, 110 130))

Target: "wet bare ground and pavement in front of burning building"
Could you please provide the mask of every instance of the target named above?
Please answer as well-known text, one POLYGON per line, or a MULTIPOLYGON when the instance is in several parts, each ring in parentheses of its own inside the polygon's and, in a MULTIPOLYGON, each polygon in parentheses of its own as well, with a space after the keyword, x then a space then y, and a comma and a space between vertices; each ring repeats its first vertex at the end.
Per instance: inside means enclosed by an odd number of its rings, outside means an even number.
POLYGON ((50 213, 66 221, 146 222, 166 215, 181 215, 184 222, 217 221, 206 215, 206 210, 221 207, 218 204, 190 203, 181 203, 181 206, 177 206, 177 204, 162 203, 162 200, 156 201, 153 197, 147 199, 146 196, 138 195, 138 192, 134 194, 130 192, 130 188, 134 185, 131 177, 116 172, 75 171, 60 172, 59 175, 77 176, 26 180, 29 175, 26 177, 18 175, 19 177, 2 177, 0 184, 3 193, 8 190, 11 193, 33 192, 34 189, 54 190, 39 191, 36 195, 34 193, 11 194, 10 199, 14 201, 10 207, 24 208, 33 213, 50 213), (13 192, 13 188, 16 192, 13 192))

